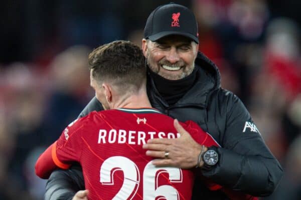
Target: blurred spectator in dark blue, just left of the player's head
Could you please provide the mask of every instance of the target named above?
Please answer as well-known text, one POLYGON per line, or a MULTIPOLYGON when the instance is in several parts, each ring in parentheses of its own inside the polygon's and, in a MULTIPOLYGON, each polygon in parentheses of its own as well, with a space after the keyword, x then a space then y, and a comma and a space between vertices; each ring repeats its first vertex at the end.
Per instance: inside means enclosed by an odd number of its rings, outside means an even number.
MULTIPOLYGON (((55 141, 89 99, 88 53, 86 46, 72 46, 51 63, 51 88, 43 120, 44 137, 55 141)), ((92 94, 93 95, 93 94, 92 94)))

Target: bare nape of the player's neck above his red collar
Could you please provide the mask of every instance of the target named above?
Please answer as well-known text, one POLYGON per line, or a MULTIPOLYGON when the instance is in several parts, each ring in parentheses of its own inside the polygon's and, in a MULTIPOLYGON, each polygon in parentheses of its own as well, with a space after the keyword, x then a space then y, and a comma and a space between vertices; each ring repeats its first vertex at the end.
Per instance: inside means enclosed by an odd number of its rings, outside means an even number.
POLYGON ((140 89, 135 94, 128 96, 121 96, 116 102, 112 102, 111 109, 117 109, 121 107, 138 108, 138 107, 152 107, 150 104, 145 89, 140 89))

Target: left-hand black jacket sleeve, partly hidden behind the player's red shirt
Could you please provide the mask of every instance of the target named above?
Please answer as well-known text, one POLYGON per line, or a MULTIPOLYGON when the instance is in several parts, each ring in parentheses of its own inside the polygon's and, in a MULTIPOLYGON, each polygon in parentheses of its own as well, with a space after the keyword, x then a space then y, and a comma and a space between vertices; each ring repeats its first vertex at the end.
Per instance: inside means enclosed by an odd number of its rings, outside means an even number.
MULTIPOLYGON (((91 111, 102 110, 101 103, 96 97, 87 104, 79 117, 91 111)), ((83 173, 80 165, 72 165, 70 169, 57 169, 53 171, 46 183, 45 200, 71 200, 78 190, 85 189, 83 173)))

